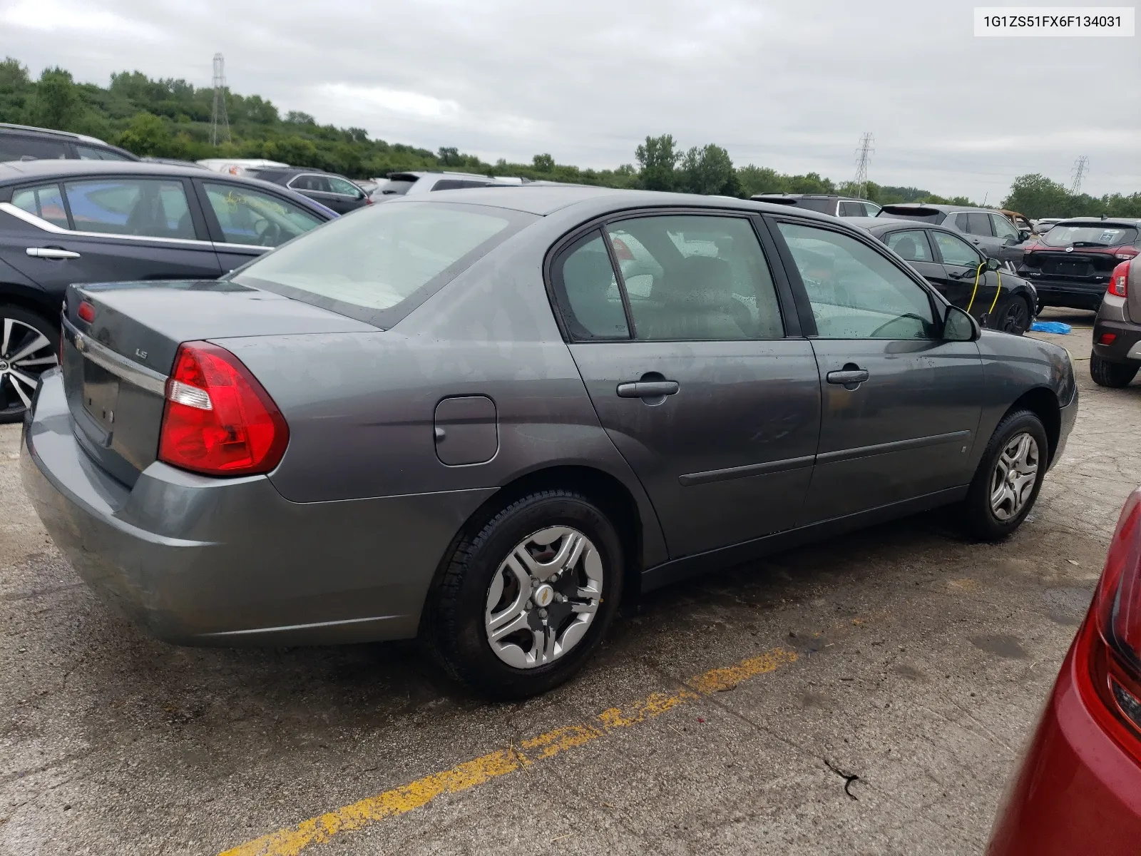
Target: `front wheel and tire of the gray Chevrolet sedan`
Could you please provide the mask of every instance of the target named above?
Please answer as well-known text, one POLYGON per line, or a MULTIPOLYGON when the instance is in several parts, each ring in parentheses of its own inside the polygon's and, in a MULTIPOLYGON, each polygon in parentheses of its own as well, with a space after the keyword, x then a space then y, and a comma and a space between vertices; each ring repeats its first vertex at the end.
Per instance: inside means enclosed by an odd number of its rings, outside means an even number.
POLYGON ((1038 499, 1049 455, 1046 429, 1035 413, 1017 410, 1004 417, 963 501, 968 532, 998 541, 1022 525, 1038 499))

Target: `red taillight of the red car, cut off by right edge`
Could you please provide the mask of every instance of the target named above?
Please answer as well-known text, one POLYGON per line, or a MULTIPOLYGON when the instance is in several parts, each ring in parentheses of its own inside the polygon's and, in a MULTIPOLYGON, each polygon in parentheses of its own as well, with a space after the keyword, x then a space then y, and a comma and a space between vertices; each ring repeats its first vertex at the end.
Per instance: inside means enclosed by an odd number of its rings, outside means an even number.
POLYGON ((1075 653, 1090 713, 1141 762, 1141 488, 1122 509, 1075 653))

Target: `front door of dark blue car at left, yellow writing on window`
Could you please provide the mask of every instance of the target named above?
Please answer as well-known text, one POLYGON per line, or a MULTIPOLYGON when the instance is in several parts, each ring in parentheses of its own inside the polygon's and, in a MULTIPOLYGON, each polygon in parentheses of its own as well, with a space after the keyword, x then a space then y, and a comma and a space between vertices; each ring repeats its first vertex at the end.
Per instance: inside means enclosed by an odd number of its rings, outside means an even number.
POLYGON ((222 273, 324 223, 298 203, 248 184, 195 178, 194 189, 222 273))

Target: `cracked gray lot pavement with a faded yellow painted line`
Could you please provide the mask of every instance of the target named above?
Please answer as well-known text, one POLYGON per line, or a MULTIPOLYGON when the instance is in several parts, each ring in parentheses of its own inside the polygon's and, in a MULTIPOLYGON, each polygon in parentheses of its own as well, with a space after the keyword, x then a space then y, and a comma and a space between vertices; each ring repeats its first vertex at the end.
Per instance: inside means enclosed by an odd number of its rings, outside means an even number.
POLYGON ((3 427, 0 853, 213 854, 282 829, 240 853, 979 853, 1141 481, 1141 381, 1094 387, 1092 314, 1047 317, 1076 325, 1043 338, 1076 358, 1081 414, 1009 541, 936 511, 675 586, 517 704, 411 644, 144 637, 47 539, 3 427))

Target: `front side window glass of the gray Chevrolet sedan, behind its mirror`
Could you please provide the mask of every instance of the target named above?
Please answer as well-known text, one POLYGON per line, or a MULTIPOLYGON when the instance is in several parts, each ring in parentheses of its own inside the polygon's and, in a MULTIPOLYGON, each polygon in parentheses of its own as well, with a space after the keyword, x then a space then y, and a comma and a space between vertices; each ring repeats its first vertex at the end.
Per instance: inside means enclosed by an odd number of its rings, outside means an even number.
POLYGON ((914 280, 861 241, 778 224, 823 339, 933 339, 931 301, 914 280))

